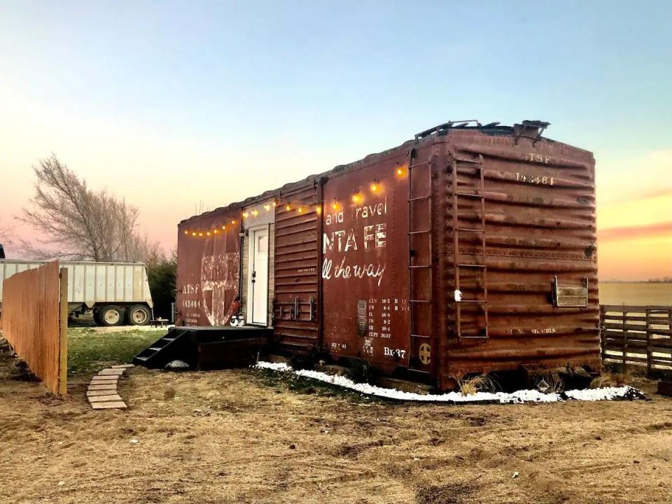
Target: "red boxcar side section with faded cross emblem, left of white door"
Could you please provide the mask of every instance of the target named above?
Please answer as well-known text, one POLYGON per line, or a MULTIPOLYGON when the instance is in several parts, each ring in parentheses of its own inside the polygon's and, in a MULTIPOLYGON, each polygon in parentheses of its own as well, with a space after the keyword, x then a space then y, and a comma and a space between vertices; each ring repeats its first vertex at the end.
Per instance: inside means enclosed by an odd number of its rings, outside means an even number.
POLYGON ((238 293, 240 220, 237 211, 178 226, 177 325, 226 325, 238 293))

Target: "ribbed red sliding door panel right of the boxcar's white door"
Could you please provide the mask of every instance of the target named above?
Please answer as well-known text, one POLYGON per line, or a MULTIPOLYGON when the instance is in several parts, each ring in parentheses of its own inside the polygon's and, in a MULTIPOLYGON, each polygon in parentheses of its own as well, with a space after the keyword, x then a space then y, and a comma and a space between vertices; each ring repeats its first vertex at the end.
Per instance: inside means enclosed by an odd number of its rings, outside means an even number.
POLYGON ((281 192, 275 213, 274 335, 281 349, 304 353, 318 346, 316 204, 307 183, 281 192))

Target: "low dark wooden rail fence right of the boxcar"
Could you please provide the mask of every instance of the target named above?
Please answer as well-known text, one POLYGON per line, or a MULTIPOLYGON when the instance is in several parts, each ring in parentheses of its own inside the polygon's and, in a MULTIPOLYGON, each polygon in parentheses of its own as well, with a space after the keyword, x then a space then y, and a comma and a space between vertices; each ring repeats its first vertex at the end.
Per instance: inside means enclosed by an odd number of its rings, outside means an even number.
POLYGON ((602 360, 672 371, 672 306, 600 306, 602 360))

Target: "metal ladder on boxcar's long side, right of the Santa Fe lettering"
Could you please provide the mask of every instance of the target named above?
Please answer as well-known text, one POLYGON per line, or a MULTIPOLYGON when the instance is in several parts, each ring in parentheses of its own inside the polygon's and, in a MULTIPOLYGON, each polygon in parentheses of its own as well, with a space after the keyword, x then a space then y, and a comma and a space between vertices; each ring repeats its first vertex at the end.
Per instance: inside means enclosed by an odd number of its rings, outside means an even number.
MULTIPOLYGON (((433 219, 432 219, 432 162, 431 161, 426 161, 426 162, 421 162, 417 163, 416 165, 412 164, 412 159, 409 162, 408 165, 408 245, 409 245, 409 258, 408 258, 408 271, 409 271, 409 314, 410 314, 410 345, 409 345, 409 370, 414 371, 414 372, 420 372, 420 373, 425 373, 429 374, 429 371, 426 369, 423 369, 419 363, 422 362, 423 356, 420 355, 421 353, 421 348, 422 344, 430 344, 431 342, 431 335, 426 335, 426 334, 419 334, 419 331, 416 328, 416 317, 415 317, 415 311, 416 307, 424 307, 426 308, 429 313, 428 313, 428 320, 433 320, 433 300, 432 300, 432 295, 433 293, 433 284, 432 284, 432 269, 433 269, 433 264, 432 264, 432 225, 433 225, 433 219), (426 169, 427 170, 427 189, 428 193, 425 195, 416 195, 414 193, 414 188, 413 188, 413 172, 414 170, 419 170, 419 169, 426 169), (421 204, 423 202, 426 202, 428 205, 428 222, 425 224, 427 227, 426 229, 415 229, 414 228, 414 207, 416 204, 421 204), (413 244, 413 237, 418 236, 418 235, 427 235, 428 237, 428 242, 427 242, 427 247, 428 247, 428 254, 426 257, 426 262, 423 264, 415 264, 414 263, 414 257, 416 256, 416 251, 414 250, 414 244, 413 244), (416 286, 414 283, 414 272, 417 270, 424 270, 428 272, 428 284, 427 284, 427 289, 430 293, 430 296, 428 298, 421 298, 420 296, 416 295, 416 286), (416 344, 418 342, 422 342, 419 344, 416 344), (416 351, 416 349, 419 349, 416 351)), ((427 357, 428 358, 428 357, 427 357)))

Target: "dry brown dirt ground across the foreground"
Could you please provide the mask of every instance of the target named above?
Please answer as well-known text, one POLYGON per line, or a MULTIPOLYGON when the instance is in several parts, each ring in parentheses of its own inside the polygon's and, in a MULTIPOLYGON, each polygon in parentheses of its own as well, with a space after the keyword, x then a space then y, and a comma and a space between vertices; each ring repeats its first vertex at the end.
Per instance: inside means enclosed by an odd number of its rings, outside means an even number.
POLYGON ((652 382, 650 401, 412 405, 251 370, 136 368, 120 382, 129 409, 92 411, 88 376, 57 400, 10 363, 1 503, 672 501, 672 400, 652 382))

